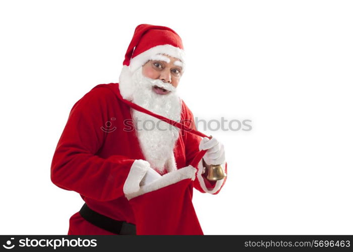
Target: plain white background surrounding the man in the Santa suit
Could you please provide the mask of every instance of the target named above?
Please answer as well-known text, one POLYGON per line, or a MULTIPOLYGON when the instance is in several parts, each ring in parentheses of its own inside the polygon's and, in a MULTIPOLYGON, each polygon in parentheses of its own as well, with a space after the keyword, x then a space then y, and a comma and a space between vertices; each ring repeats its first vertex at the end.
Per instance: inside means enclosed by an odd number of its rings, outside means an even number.
POLYGON ((2 1, 1 234, 67 234, 83 201, 50 181, 74 103, 118 82, 134 29, 177 31, 182 98, 211 132, 228 179, 194 192, 205 234, 353 234, 350 1, 2 1))

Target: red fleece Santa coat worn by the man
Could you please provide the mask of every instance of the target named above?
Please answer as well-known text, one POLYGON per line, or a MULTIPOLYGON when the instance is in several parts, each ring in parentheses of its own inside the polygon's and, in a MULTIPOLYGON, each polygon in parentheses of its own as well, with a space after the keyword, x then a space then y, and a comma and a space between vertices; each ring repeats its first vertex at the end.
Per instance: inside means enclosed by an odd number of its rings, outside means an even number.
MULTIPOLYGON (((145 158, 135 131, 127 130, 133 125, 131 108, 117 99, 114 92, 119 92, 119 84, 101 84, 74 104, 53 155, 51 181, 65 190, 79 193, 94 211, 136 224, 136 209, 134 214, 133 204, 126 198, 123 186, 133 162, 145 158)), ((191 121, 195 125, 194 116, 184 101, 181 121, 191 121)), ((190 165, 199 152, 200 141, 197 135, 180 134, 174 148, 178 169, 190 165)), ((201 175, 201 162, 196 168, 195 179, 186 178, 178 186, 183 187, 187 184, 185 181, 191 181, 191 185, 202 193, 218 194, 226 178, 211 182, 201 175)), ((189 187, 183 188, 192 198, 189 187)), ((139 198, 141 196, 133 199, 134 202, 139 198)), ((139 216, 140 220, 142 218, 139 216)), ((70 218, 68 234, 113 233, 94 226, 77 212, 70 218)))

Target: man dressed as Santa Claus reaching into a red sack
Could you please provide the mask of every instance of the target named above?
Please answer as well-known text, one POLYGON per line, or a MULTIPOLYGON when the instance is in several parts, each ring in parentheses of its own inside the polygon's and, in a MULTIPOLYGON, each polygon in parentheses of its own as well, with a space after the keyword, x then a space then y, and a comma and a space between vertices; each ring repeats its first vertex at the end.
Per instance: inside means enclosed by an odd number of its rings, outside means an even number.
POLYGON ((175 31, 139 25, 119 83, 97 85, 75 103, 51 164, 51 181, 85 202, 68 234, 203 234, 193 188, 219 193, 226 177, 210 181, 205 170, 221 164, 226 174, 223 145, 125 102, 196 130, 177 92, 185 66, 175 31))

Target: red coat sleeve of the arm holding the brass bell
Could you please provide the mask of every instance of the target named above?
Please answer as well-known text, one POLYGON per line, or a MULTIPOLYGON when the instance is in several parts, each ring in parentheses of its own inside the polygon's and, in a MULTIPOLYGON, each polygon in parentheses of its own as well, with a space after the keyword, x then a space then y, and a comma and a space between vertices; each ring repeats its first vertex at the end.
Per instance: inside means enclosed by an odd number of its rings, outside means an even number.
MULTIPOLYGON (((191 110, 189 109, 189 107, 185 104, 185 102, 183 101, 183 113, 184 113, 184 118, 185 121, 183 121, 183 123, 185 123, 186 125, 188 125, 188 127, 192 127, 194 130, 196 129, 196 125, 195 125, 195 119, 194 119, 194 115, 191 112, 191 110)), ((185 154, 186 154, 186 165, 190 165, 190 163, 193 161, 194 157, 198 154, 199 150, 199 145, 200 145, 200 141, 202 139, 202 137, 192 134, 192 133, 186 133, 185 134, 185 154)), ((202 160, 201 160, 202 162, 202 160)), ((198 169, 198 167, 195 167, 198 169)), ((216 181, 210 181, 208 180, 206 177, 204 177, 204 174, 202 175, 202 178, 205 182, 205 185, 207 187, 207 189, 211 190, 212 188, 214 188, 216 181)), ((223 185, 222 185, 223 186, 223 185)), ((196 176, 195 180, 194 180, 194 187, 200 191, 201 193, 206 193, 203 188, 200 185, 199 182, 199 178, 196 176)), ((218 190, 216 193, 214 194, 218 194, 220 190, 218 190)))

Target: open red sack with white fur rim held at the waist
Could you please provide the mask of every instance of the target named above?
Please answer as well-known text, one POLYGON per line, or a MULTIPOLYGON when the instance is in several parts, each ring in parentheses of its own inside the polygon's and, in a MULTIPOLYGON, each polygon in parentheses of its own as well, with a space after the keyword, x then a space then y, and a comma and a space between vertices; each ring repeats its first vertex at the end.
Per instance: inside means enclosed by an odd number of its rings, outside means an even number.
POLYGON ((203 234, 192 204, 195 173, 196 168, 189 165, 164 174, 137 192, 126 192, 135 215, 136 234, 203 234))

